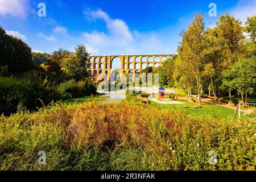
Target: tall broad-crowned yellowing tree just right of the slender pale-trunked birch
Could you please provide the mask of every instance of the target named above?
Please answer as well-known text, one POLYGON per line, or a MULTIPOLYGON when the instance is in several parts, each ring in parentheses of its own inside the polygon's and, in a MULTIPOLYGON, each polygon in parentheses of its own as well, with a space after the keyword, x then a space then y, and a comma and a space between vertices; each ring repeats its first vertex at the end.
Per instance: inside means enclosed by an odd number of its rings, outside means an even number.
MULTIPOLYGON (((218 89, 219 97, 222 82, 221 73, 233 63, 243 60, 246 55, 241 24, 240 20, 226 14, 220 16, 216 23, 216 28, 207 30, 208 38, 213 41, 211 52, 207 59, 212 62, 215 69, 216 74, 213 77, 213 83, 218 89)), ((231 91, 228 89, 230 98, 231 91)))

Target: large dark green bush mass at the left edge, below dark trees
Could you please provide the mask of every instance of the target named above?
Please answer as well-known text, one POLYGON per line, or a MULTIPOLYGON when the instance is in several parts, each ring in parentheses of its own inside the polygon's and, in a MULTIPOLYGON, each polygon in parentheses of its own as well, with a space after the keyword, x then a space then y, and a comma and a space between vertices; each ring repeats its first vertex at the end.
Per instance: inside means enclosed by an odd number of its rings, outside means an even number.
POLYGON ((15 113, 18 105, 28 110, 49 104, 60 99, 54 87, 44 86, 41 78, 33 73, 23 78, 0 77, 0 112, 6 115, 15 113))

